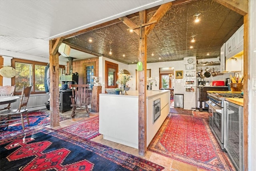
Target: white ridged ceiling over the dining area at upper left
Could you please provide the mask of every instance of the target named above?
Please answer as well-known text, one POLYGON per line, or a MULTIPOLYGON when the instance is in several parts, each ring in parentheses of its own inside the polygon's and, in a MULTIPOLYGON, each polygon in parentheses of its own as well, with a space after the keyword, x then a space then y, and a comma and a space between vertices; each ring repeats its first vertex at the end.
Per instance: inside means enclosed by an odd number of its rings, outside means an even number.
POLYGON ((52 38, 170 1, 0 0, 0 49, 49 58, 52 38))

